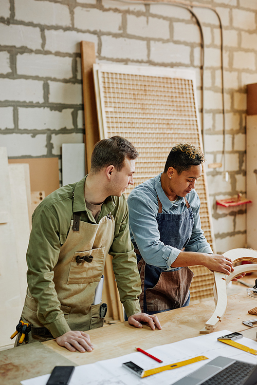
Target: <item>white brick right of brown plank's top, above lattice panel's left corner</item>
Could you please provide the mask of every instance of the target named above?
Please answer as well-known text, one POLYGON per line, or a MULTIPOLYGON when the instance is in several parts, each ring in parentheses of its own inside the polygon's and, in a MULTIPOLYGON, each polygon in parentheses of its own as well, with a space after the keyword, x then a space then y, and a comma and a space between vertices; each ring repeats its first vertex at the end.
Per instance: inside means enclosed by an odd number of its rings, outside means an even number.
POLYGON ((146 42, 126 37, 101 36, 101 56, 113 59, 146 60, 146 42))

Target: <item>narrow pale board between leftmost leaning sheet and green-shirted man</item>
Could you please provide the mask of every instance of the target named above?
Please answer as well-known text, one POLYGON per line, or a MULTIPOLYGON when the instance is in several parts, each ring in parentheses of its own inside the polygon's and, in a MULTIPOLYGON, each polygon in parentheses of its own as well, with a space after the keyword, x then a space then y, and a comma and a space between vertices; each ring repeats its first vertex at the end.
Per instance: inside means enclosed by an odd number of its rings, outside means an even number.
POLYGON ((9 164, 12 217, 22 302, 25 300, 27 288, 26 253, 30 234, 25 168, 24 164, 9 164))

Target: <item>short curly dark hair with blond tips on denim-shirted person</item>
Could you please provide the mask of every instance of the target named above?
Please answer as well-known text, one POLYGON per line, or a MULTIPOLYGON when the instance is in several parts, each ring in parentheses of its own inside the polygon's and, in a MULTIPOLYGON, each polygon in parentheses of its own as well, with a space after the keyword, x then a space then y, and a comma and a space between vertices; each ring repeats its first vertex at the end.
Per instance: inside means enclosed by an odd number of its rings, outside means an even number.
POLYGON ((178 143, 172 147, 167 158, 164 172, 167 172, 169 167, 174 167, 178 174, 188 170, 191 166, 198 166, 204 163, 205 158, 200 149, 191 143, 178 143))

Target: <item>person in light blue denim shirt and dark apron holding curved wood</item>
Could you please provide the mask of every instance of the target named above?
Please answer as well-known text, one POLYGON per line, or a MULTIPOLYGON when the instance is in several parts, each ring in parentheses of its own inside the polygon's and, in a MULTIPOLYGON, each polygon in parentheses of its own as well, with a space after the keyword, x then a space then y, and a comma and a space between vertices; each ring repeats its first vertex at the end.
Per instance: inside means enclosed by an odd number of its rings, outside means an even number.
POLYGON ((180 143, 171 149, 164 171, 135 187, 128 197, 144 313, 189 304, 193 273, 188 266, 204 265, 228 275, 233 271, 229 258, 213 254, 201 229, 194 187, 203 162, 204 155, 195 146, 180 143))

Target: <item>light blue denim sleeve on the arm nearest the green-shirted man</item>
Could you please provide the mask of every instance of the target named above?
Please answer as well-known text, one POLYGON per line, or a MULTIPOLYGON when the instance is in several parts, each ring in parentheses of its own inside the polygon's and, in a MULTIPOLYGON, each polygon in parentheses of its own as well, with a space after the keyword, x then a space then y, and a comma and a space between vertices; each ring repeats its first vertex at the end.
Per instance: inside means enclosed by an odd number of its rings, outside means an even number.
MULTIPOLYGON (((156 199, 157 200, 157 199, 156 199)), ((158 204, 150 198, 130 195, 127 199, 130 229, 138 249, 149 265, 171 269, 181 250, 164 245, 160 241, 160 233, 156 215, 158 204)))

